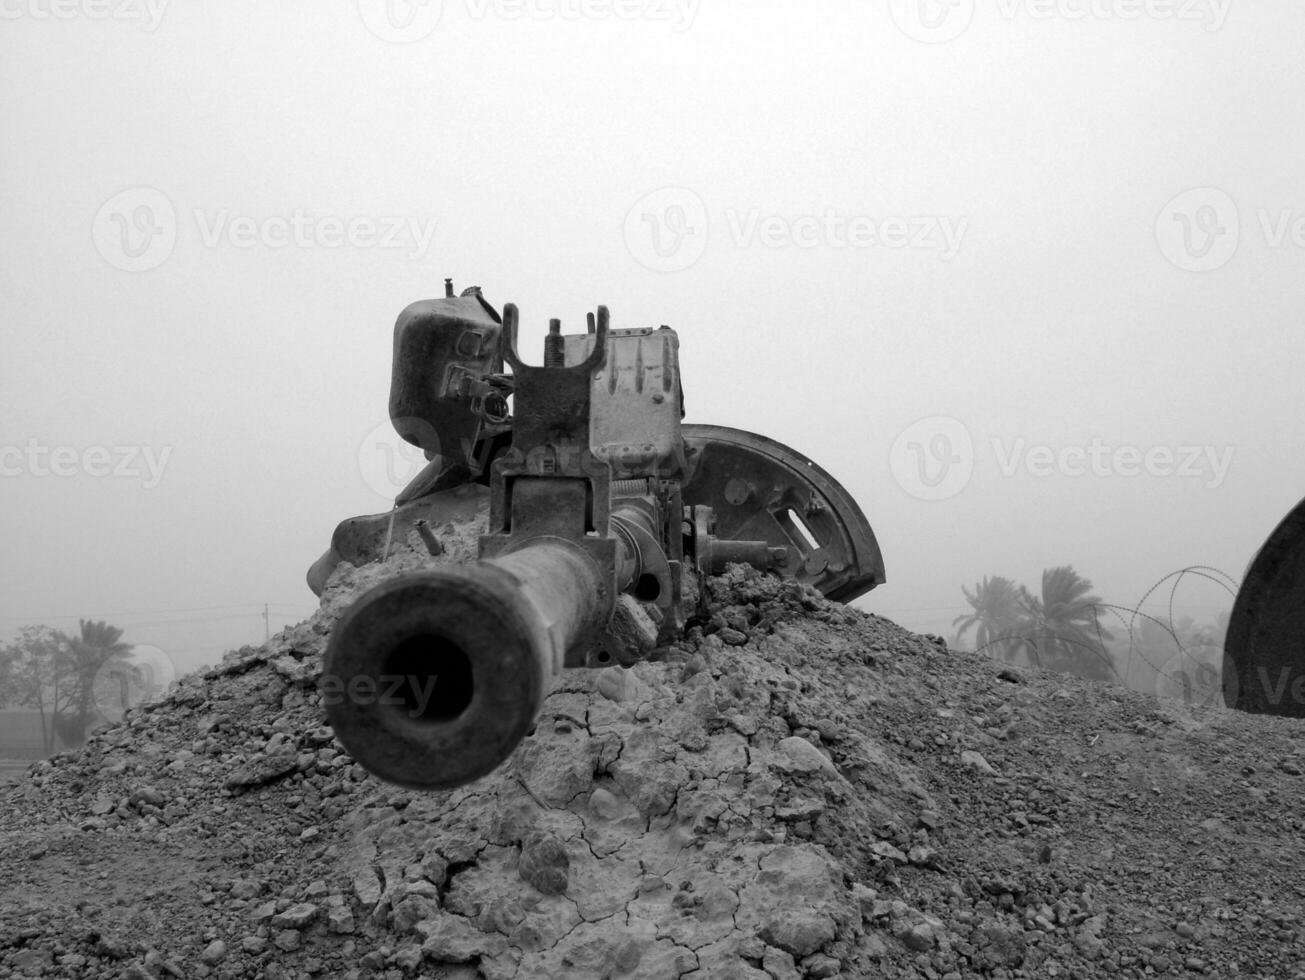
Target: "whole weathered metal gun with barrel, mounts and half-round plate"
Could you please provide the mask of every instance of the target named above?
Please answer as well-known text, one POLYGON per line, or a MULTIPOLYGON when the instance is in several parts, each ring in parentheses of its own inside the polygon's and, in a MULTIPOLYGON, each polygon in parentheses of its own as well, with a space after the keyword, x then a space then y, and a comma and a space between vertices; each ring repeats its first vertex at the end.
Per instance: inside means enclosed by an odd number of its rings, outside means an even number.
POLYGON ((321 594, 341 561, 382 559, 395 530, 438 553, 431 528, 488 502, 478 561, 373 587, 328 646, 337 736, 410 788, 491 773, 561 669, 663 655, 698 611, 702 578, 732 562, 840 602, 885 581, 865 515, 814 462, 752 432, 681 423, 673 330, 613 329, 599 307, 585 333, 549 321, 543 367, 531 367, 517 326, 513 304, 500 317, 479 288, 455 296, 448 281, 442 299, 399 314, 390 418, 429 463, 393 512, 341 523, 308 573, 321 594))

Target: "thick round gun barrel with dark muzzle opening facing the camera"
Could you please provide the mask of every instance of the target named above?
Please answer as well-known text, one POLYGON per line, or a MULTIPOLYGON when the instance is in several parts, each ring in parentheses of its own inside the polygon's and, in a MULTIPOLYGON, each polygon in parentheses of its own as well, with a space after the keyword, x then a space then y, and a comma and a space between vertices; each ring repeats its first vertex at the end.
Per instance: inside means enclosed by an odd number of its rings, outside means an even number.
POLYGON ((390 579, 341 617, 322 697, 337 737, 381 779, 452 789, 535 724, 566 650, 602 628, 598 565, 557 538, 390 579))

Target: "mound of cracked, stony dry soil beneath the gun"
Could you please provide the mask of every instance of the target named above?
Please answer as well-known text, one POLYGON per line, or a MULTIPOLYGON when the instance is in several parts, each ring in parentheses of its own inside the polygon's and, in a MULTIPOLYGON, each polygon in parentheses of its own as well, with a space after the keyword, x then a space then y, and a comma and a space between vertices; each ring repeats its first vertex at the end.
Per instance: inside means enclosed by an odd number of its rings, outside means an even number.
POLYGON ((0 977, 1305 977, 1300 722, 735 568, 668 660, 568 672, 505 766, 414 793, 341 750, 316 679, 416 561, 342 568, 8 791, 0 977))

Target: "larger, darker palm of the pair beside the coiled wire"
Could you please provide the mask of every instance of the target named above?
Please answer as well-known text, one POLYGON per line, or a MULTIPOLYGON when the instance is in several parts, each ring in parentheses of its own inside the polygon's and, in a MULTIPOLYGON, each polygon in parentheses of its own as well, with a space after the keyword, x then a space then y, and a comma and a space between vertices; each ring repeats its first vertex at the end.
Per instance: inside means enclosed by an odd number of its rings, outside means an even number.
POLYGON ((1024 615, 1017 634, 1035 663, 1090 680, 1118 680, 1103 642, 1111 633, 1099 620, 1101 599, 1092 595, 1088 579, 1060 565, 1043 572, 1040 596, 1021 591, 1024 615))

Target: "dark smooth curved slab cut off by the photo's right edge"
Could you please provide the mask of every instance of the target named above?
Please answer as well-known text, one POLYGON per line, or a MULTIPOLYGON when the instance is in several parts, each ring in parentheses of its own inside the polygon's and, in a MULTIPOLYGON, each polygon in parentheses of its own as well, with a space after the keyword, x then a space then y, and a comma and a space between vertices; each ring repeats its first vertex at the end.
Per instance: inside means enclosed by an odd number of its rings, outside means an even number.
POLYGON ((1246 569, 1224 652, 1224 703, 1305 718, 1305 500, 1246 569))

